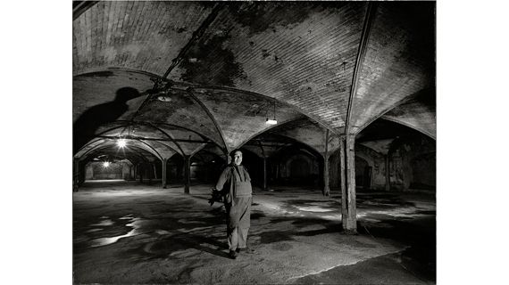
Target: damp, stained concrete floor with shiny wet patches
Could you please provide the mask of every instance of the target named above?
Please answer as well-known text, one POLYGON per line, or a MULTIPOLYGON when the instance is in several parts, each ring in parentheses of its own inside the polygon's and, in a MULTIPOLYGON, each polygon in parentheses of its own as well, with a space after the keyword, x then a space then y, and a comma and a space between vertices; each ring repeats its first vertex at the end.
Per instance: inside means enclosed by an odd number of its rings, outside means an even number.
POLYGON ((75 283, 433 284, 436 203, 425 193, 358 192, 358 235, 341 233, 340 197, 255 189, 248 243, 227 256, 211 185, 103 181, 73 193, 75 283))

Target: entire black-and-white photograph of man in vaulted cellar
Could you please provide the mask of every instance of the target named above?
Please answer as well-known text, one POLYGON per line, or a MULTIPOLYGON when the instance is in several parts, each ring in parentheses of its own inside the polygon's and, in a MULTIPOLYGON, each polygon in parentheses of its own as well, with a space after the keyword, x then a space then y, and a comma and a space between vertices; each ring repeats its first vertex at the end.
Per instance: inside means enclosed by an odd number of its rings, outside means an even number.
POLYGON ((435 283, 435 14, 73 2, 73 281, 435 283))

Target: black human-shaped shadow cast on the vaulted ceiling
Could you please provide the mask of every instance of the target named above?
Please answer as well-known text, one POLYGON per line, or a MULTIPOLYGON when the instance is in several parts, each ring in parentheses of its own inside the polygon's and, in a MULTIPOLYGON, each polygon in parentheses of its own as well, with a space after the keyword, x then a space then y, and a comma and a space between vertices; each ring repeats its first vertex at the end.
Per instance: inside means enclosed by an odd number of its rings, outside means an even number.
POLYGON ((72 153, 76 154, 81 147, 93 139, 99 126, 120 118, 129 110, 127 102, 141 95, 136 88, 122 87, 117 90, 112 102, 90 107, 83 112, 72 126, 72 153))

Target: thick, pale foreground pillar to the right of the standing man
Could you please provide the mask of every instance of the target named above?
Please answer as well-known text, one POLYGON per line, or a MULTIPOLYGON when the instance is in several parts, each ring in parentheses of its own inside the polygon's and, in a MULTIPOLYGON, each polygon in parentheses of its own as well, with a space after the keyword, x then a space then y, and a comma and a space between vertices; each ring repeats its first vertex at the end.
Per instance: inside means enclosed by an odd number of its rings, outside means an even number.
POLYGON ((355 136, 348 135, 341 148, 341 222, 346 233, 357 232, 355 205, 355 136))

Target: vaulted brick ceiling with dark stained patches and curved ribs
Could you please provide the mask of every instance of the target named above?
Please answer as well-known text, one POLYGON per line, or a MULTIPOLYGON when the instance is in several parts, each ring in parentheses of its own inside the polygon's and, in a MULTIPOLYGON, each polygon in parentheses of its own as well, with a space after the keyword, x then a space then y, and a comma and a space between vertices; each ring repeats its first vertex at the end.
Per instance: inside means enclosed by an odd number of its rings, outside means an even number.
POLYGON ((75 153, 126 132, 230 151, 274 107, 290 137, 377 118, 435 137, 434 2, 77 2, 73 19, 75 153))

